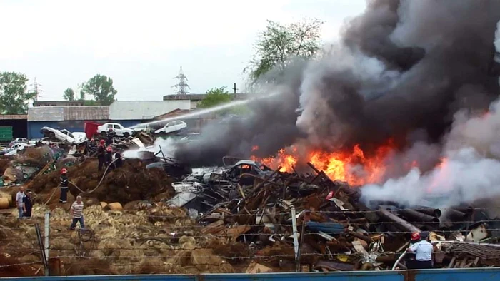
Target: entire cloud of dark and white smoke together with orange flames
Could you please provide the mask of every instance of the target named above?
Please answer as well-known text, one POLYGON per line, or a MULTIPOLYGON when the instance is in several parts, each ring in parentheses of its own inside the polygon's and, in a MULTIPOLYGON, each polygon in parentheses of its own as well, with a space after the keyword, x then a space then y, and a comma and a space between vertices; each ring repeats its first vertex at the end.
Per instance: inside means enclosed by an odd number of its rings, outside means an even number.
POLYGON ((496 0, 368 1, 319 56, 271 71, 249 116, 206 126, 176 158, 310 162, 366 201, 500 195, 499 21, 496 0))

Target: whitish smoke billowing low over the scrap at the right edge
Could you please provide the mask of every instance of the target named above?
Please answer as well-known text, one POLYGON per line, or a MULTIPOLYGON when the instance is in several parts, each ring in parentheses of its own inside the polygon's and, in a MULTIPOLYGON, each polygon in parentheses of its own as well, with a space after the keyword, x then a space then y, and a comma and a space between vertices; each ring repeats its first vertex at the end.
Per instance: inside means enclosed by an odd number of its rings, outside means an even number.
POLYGON ((459 112, 446 138, 444 161, 429 173, 414 168, 383 185, 365 185, 362 200, 394 200, 403 205, 434 202, 436 208, 494 198, 500 195, 500 101, 489 113, 459 112))

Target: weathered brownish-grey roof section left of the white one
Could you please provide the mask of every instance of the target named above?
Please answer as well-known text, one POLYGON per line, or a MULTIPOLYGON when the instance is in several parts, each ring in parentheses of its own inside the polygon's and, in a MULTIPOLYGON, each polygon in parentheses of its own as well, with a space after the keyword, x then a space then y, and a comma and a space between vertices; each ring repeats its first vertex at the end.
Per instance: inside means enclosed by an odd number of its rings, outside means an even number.
POLYGON ((28 121, 108 120, 109 106, 39 106, 28 108, 28 121))

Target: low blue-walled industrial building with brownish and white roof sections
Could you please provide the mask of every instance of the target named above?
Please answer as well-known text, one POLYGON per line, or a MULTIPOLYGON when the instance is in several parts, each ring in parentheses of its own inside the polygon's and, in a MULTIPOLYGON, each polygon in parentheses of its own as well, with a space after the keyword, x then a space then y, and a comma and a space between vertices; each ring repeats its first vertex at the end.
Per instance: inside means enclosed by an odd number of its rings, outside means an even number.
POLYGON ((116 122, 125 127, 152 121, 176 109, 189 110, 186 101, 114 101, 111 106, 35 106, 28 110, 28 138, 42 138, 44 126, 83 132, 85 121, 96 123, 116 122))

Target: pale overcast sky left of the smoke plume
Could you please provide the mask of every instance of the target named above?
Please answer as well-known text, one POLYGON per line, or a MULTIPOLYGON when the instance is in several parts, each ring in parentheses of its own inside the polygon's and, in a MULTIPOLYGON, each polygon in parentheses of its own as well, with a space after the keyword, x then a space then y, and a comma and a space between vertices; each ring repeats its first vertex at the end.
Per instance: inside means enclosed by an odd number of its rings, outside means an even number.
POLYGON ((113 78, 120 101, 173 94, 182 66, 190 93, 236 83, 244 91, 266 20, 325 21, 324 43, 339 39, 365 0, 0 0, 0 71, 41 84, 39 101, 96 74, 113 78))

